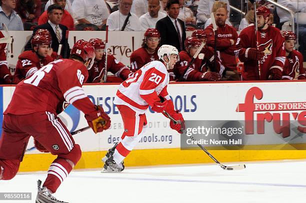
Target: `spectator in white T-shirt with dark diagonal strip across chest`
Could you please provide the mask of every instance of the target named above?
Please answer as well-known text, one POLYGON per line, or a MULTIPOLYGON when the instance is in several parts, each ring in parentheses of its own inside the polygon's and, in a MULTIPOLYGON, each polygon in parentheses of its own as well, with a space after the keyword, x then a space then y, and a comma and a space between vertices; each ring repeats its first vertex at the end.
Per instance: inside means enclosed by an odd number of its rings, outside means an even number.
POLYGON ((110 13, 106 24, 109 30, 139 31, 140 22, 137 15, 130 12, 132 0, 119 0, 119 10, 110 13))

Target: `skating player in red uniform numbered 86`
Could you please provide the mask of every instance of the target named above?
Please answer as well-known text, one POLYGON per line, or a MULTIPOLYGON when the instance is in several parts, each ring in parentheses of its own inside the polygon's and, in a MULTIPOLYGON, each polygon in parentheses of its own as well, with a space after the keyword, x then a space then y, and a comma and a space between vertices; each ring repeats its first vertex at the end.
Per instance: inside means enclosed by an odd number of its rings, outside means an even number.
POLYGON ((94 106, 82 89, 93 60, 94 48, 89 42, 78 40, 69 59, 51 62, 21 81, 3 113, 1 180, 10 180, 16 175, 30 136, 52 155, 57 155, 42 188, 41 181, 37 182, 36 203, 63 203, 52 193, 81 157, 79 145, 74 143, 68 129, 56 116, 60 113, 58 106, 66 101, 82 111, 94 133, 110 126, 107 114, 100 106, 94 106))

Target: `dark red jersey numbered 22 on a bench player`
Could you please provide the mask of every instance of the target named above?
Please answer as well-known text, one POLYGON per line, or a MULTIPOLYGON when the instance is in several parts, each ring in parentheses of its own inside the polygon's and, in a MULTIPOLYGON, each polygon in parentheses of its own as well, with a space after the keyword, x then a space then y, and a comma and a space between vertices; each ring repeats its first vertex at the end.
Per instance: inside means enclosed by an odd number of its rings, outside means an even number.
POLYGON ((34 51, 24 51, 18 56, 14 76, 22 80, 52 61, 53 59, 49 55, 39 60, 38 55, 34 51))

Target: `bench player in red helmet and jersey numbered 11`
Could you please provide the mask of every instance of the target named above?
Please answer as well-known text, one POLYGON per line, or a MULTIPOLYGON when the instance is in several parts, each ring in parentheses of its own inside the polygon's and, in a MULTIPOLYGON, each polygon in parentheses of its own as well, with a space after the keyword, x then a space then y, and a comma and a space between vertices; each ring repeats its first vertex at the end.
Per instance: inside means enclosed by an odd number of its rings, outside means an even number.
POLYGON ((157 50, 160 42, 160 34, 155 28, 148 28, 144 32, 143 42, 140 48, 132 52, 129 57, 130 69, 136 72, 146 63, 158 60, 157 50))

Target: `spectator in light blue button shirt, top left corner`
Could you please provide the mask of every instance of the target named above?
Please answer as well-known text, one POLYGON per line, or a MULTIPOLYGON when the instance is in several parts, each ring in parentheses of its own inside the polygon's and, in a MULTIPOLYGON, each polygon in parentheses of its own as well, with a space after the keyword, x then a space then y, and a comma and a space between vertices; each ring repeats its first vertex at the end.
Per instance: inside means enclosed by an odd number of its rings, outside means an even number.
POLYGON ((0 30, 4 23, 8 30, 23 30, 20 16, 14 11, 16 0, 0 0, 0 30))

